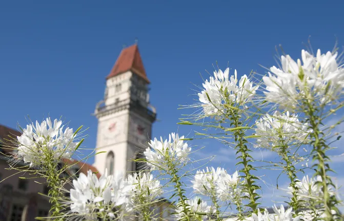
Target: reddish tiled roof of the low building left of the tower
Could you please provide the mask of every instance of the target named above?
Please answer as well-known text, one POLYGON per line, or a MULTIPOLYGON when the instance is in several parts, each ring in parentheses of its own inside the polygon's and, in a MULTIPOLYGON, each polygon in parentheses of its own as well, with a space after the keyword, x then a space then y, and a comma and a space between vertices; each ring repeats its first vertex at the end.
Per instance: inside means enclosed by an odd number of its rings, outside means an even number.
MULTIPOLYGON (((6 146, 12 146, 13 143, 11 143, 12 139, 16 139, 16 136, 21 136, 22 133, 18 130, 12 129, 10 127, 4 126, 0 124, 0 143, 4 143, 5 147, 0 146, 0 149, 2 149, 5 153, 7 153, 7 156, 10 157, 12 149, 6 148, 6 146), (11 139, 12 138, 12 139, 11 139)), ((96 173, 97 177, 100 177, 100 173, 98 172, 97 168, 94 166, 87 164, 85 162, 77 161, 77 160, 69 160, 69 159, 62 159, 62 162, 67 163, 68 165, 75 164, 79 167, 79 171, 82 173, 87 174, 88 170, 91 170, 93 173, 96 173)))

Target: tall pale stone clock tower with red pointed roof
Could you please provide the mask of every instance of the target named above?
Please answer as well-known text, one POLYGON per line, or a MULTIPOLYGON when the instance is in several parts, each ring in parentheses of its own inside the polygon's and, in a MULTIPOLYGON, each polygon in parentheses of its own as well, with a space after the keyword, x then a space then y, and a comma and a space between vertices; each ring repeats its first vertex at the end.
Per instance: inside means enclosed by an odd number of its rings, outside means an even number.
POLYGON ((149 103, 147 78, 137 44, 120 52, 106 77, 105 95, 95 108, 98 119, 94 165, 100 173, 108 169, 138 171, 142 163, 133 159, 143 156, 151 138, 155 108, 149 103))

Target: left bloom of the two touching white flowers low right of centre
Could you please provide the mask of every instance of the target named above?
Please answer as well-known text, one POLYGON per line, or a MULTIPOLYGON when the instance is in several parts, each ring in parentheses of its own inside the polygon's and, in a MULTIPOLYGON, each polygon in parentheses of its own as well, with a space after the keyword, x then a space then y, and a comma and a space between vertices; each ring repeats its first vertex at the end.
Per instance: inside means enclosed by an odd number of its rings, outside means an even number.
POLYGON ((193 184, 192 188, 195 193, 211 196, 213 191, 220 182, 221 174, 225 174, 225 169, 217 167, 207 167, 207 171, 198 170, 194 176, 194 180, 191 181, 193 184))

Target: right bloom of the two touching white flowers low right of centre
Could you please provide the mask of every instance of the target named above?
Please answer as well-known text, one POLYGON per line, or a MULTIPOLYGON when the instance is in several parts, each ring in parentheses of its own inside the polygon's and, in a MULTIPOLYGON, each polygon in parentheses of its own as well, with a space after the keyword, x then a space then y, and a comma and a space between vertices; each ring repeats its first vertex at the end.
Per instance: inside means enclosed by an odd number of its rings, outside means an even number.
POLYGON ((242 196, 248 195, 242 190, 242 184, 244 182, 240 181, 237 171, 233 175, 221 171, 221 179, 216 187, 217 197, 222 201, 231 201, 234 204, 240 203, 242 196))

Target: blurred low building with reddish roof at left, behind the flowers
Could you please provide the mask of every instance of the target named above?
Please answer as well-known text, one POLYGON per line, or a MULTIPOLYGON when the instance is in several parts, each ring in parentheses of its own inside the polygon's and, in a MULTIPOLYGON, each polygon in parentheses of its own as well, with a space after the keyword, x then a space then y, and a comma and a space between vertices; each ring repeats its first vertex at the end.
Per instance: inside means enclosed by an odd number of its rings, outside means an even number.
MULTIPOLYGON (((44 179, 30 179, 34 175, 29 172, 18 173, 16 170, 9 170, 9 161, 13 150, 8 148, 11 138, 20 136, 18 130, 0 125, 0 221, 24 221, 35 220, 34 217, 45 217, 49 214, 49 198, 39 193, 48 194, 49 188, 44 179), (27 179, 20 179, 24 177, 27 179)), ((64 163, 73 165, 70 169, 73 173, 87 173, 88 170, 97 172, 92 165, 65 160, 64 163)), ((24 163, 17 163, 16 166, 24 166, 24 163)), ((97 176, 100 176, 97 173, 97 176)), ((70 188, 70 187, 66 187, 70 188)), ((67 194, 67 193, 66 193, 67 194)))

